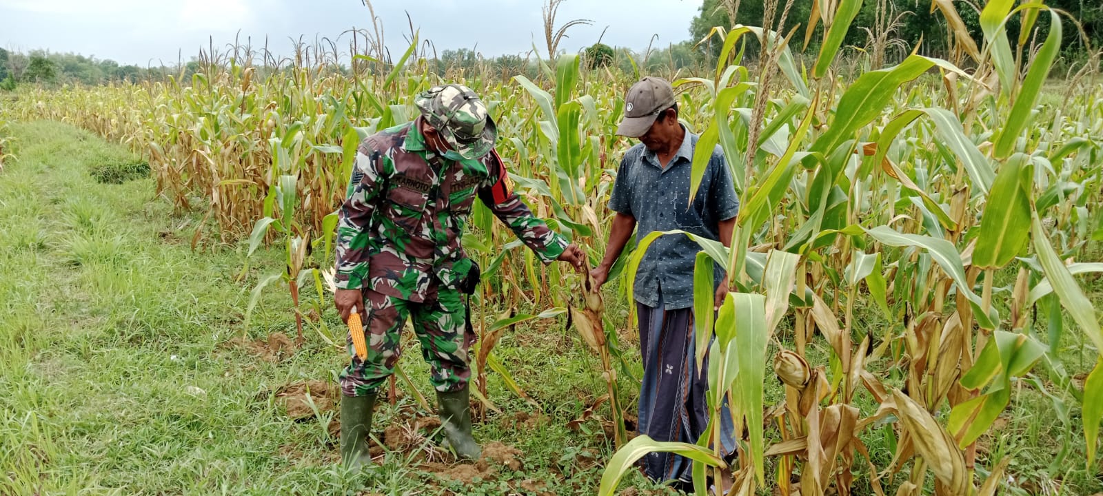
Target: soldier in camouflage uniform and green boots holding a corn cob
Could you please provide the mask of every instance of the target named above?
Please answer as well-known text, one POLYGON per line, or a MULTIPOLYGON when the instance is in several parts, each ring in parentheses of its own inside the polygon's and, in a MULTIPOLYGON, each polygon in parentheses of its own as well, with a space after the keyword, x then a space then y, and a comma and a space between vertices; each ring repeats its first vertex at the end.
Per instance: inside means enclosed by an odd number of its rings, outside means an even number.
MULTIPOLYGON (((545 263, 565 260, 582 270, 582 252, 511 191, 493 150, 496 128, 486 107, 460 85, 419 95, 421 115, 386 129, 358 148, 347 197, 340 209, 334 303, 347 322, 362 315, 367 358, 349 337, 352 363, 340 376, 341 456, 367 462, 366 435, 376 391, 398 362, 407 317, 432 368, 440 417, 449 444, 461 457, 478 459, 468 397, 467 308, 461 290, 476 269, 460 237, 475 196, 545 263)), ((468 292, 470 289, 468 289, 468 292)))

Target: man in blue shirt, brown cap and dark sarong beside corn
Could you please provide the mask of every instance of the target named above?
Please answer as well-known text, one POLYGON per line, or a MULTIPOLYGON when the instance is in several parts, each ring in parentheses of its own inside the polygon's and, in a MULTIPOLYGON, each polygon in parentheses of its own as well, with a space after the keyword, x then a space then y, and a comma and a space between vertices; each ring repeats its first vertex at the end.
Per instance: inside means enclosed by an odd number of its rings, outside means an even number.
MULTIPOLYGON (((617 215, 604 258, 591 271, 598 285, 606 282, 636 227, 636 239, 681 229, 728 246, 739 212, 731 171, 716 147, 696 197, 689 198, 697 136, 678 122, 671 84, 644 77, 633 85, 617 133, 638 138, 640 144, 624 154, 617 171, 609 198, 609 209, 617 215)), ((662 236, 647 248, 636 272, 632 298, 640 316, 644 367, 639 432, 656 441, 696 443, 708 425, 708 359, 699 373, 694 360, 693 272, 699 250, 687 236, 662 236)), ((715 274, 719 306, 728 281, 721 268, 715 274)), ((735 451, 731 417, 724 417, 722 451, 730 454, 735 451)), ((671 453, 651 453, 643 466, 655 481, 692 479, 690 461, 671 453)))

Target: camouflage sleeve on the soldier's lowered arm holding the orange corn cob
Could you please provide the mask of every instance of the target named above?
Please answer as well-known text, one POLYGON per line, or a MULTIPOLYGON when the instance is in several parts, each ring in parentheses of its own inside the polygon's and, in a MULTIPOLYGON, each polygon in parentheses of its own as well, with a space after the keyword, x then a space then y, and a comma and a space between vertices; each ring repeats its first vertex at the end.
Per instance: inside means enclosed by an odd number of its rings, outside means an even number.
POLYGON ((361 145, 345 201, 338 211, 336 276, 340 289, 360 289, 367 282, 368 225, 382 190, 378 152, 361 145))

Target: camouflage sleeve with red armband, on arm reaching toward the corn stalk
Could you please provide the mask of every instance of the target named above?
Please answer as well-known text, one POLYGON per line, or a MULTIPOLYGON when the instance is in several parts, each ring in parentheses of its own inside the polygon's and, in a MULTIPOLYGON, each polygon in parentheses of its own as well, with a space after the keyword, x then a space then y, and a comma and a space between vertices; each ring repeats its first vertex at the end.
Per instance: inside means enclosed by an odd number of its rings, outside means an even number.
POLYGON ((479 188, 479 200, 544 263, 550 263, 567 248, 567 240, 549 229, 544 220, 533 216, 532 211, 513 192, 505 165, 497 152, 491 151, 491 155, 492 160, 486 161, 490 179, 479 188))

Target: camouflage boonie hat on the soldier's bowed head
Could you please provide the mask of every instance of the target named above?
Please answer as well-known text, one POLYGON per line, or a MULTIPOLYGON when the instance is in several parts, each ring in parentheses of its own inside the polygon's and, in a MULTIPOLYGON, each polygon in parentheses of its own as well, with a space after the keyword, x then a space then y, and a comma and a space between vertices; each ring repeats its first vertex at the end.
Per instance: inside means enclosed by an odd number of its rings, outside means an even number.
POLYGON ((414 100, 430 126, 464 159, 478 159, 494 148, 497 127, 486 105, 471 88, 445 85, 429 88, 414 100))

